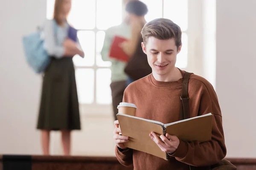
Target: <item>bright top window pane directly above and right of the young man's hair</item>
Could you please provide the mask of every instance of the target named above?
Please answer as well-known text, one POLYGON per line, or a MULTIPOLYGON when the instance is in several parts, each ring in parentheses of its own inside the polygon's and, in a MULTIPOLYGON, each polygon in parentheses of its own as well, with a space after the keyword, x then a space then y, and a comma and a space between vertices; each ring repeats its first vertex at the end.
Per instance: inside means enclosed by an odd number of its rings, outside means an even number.
POLYGON ((188 29, 188 0, 164 0, 163 17, 172 20, 182 31, 188 29))

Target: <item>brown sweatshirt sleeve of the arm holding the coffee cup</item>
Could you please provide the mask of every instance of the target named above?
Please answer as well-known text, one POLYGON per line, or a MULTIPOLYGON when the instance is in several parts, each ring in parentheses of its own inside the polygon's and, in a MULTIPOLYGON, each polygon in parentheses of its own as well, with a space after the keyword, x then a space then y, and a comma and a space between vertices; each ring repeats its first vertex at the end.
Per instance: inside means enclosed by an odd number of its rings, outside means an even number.
MULTIPOLYGON (((128 90, 129 90, 129 88, 125 89, 124 96, 123 96, 123 102, 129 102, 128 90)), ((129 166, 129 165, 133 164, 133 150, 131 148, 128 148, 127 150, 122 150, 116 146, 115 153, 116 153, 117 160, 122 165, 129 166)))

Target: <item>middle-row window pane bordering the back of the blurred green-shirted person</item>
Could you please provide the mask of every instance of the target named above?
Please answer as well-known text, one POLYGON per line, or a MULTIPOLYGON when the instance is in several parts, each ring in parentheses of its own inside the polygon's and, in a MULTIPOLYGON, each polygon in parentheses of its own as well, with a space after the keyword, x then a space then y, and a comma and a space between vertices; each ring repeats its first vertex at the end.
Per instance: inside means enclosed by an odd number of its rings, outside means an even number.
POLYGON ((111 62, 109 61, 103 61, 101 57, 101 50, 104 42, 105 32, 104 31, 98 31, 96 34, 96 64, 98 66, 111 66, 111 62))

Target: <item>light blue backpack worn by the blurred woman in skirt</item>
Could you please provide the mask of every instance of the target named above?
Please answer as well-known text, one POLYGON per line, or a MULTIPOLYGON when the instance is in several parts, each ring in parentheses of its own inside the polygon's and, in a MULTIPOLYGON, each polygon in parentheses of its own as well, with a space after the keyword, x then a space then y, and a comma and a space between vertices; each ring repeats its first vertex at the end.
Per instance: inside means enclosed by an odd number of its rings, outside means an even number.
MULTIPOLYGON (((57 23, 53 20, 54 34, 57 34, 57 23)), ((41 31, 26 35, 22 38, 26 61, 32 69, 40 74, 45 71, 50 62, 50 57, 44 48, 44 39, 41 31)))

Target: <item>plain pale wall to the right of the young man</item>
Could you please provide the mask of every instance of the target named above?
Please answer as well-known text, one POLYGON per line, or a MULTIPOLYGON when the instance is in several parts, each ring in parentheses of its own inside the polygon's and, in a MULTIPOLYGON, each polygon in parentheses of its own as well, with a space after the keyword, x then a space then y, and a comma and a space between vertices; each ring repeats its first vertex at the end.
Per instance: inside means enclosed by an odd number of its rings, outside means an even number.
POLYGON ((216 90, 228 153, 256 157, 256 0, 217 0, 216 90))

